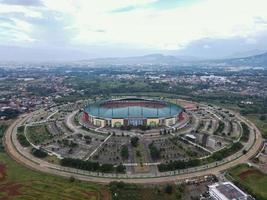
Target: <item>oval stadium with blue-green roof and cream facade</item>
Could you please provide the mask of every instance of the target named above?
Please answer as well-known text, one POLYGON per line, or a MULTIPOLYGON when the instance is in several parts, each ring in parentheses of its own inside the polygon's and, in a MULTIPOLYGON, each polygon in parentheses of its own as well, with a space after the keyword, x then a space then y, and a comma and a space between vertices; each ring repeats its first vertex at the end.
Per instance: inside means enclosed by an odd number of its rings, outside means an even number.
POLYGON ((173 126, 183 119, 176 104, 143 98, 98 101, 84 108, 82 119, 96 127, 173 126))

